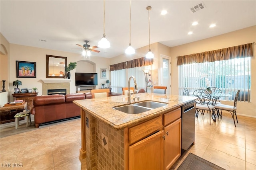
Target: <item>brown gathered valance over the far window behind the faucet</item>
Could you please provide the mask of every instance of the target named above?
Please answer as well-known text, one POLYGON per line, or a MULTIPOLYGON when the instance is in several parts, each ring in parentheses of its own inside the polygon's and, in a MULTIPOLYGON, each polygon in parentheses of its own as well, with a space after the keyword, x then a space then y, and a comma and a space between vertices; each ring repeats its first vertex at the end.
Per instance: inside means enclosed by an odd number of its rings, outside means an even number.
POLYGON ((153 59, 146 59, 146 57, 142 57, 139 59, 134 59, 134 60, 110 65, 110 71, 122 70, 126 68, 134 68, 134 67, 140 67, 140 66, 148 66, 152 64, 153 64, 153 59))

